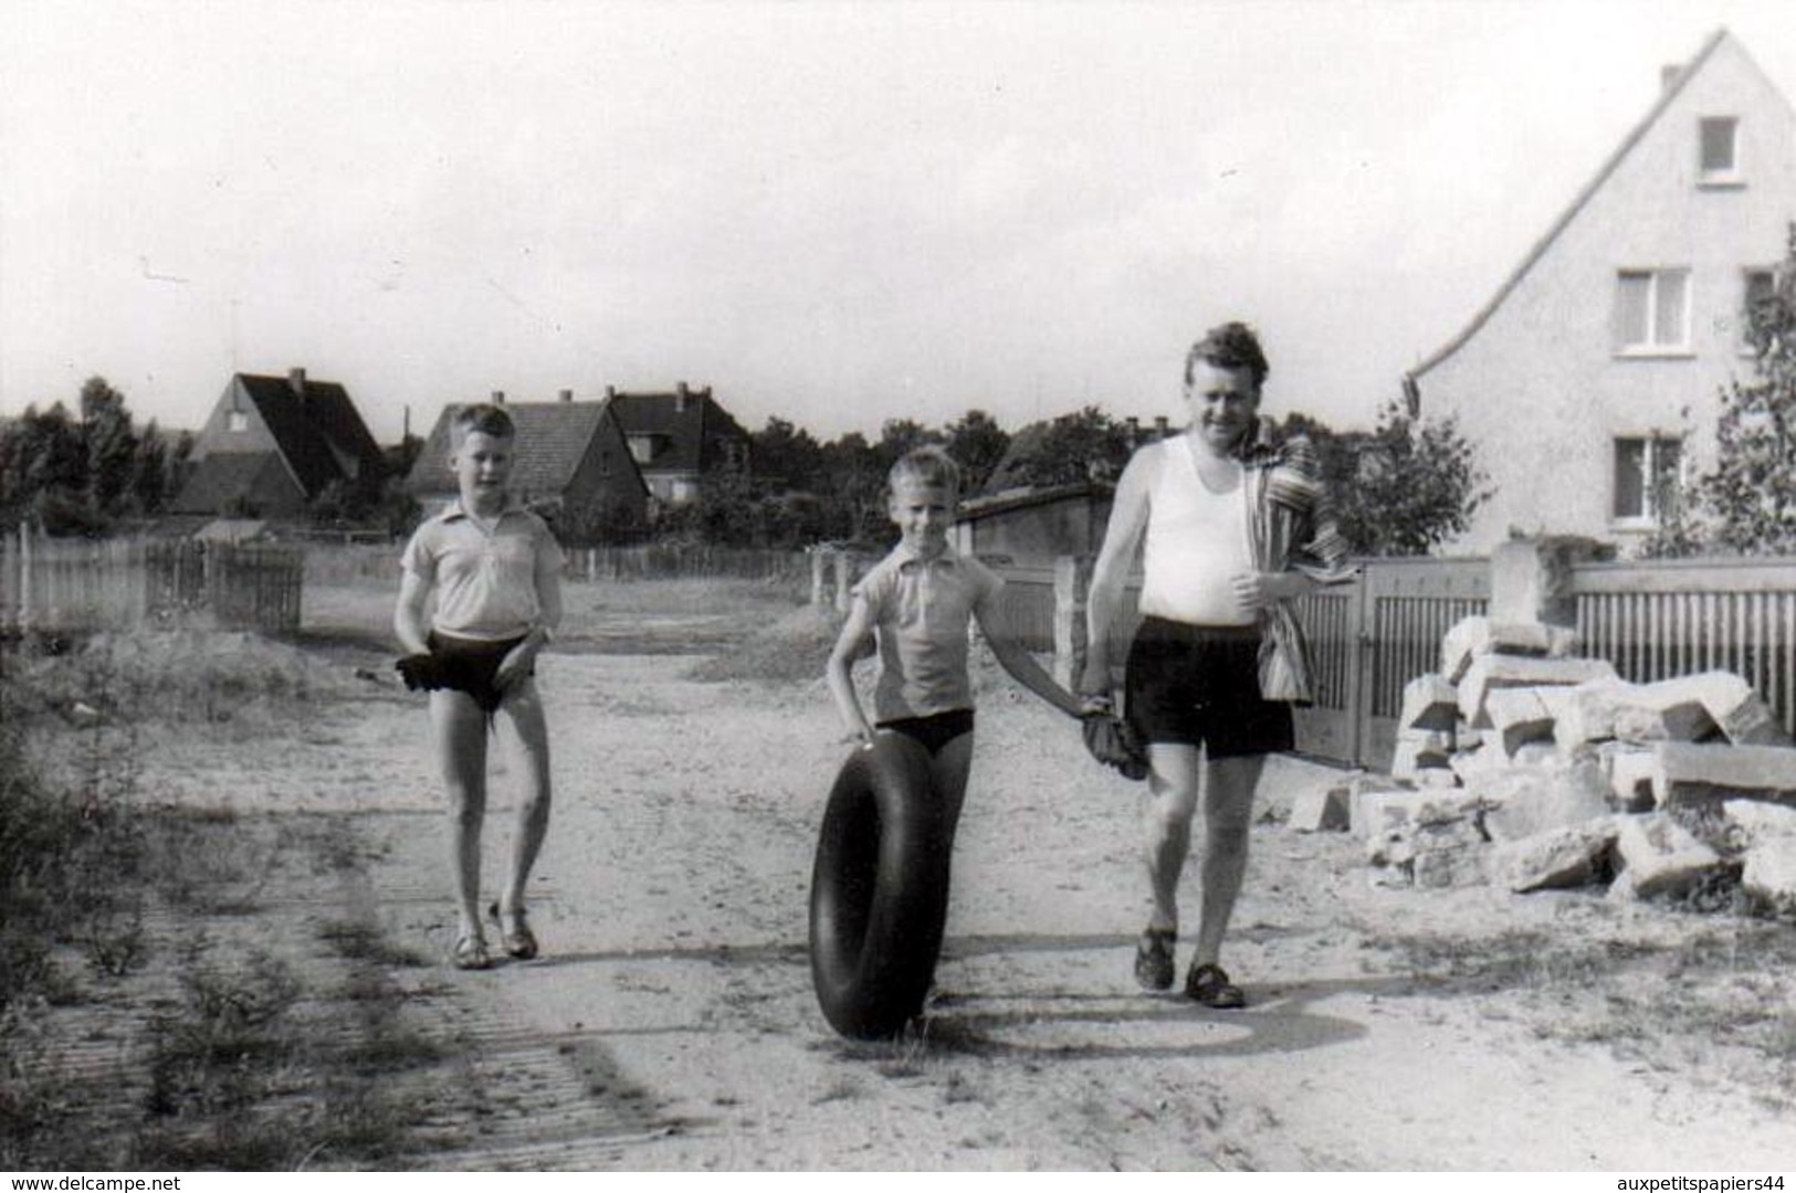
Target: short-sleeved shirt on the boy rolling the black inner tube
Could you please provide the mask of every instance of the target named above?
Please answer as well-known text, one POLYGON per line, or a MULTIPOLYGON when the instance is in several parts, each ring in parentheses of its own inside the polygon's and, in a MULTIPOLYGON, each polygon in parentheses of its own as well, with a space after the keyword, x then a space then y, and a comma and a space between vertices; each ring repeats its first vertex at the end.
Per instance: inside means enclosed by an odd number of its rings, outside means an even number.
POLYGON ((943 551, 920 560, 898 544, 873 565, 855 596, 867 603, 880 642, 873 719, 898 721, 973 707, 966 626, 1004 579, 979 560, 943 551))

